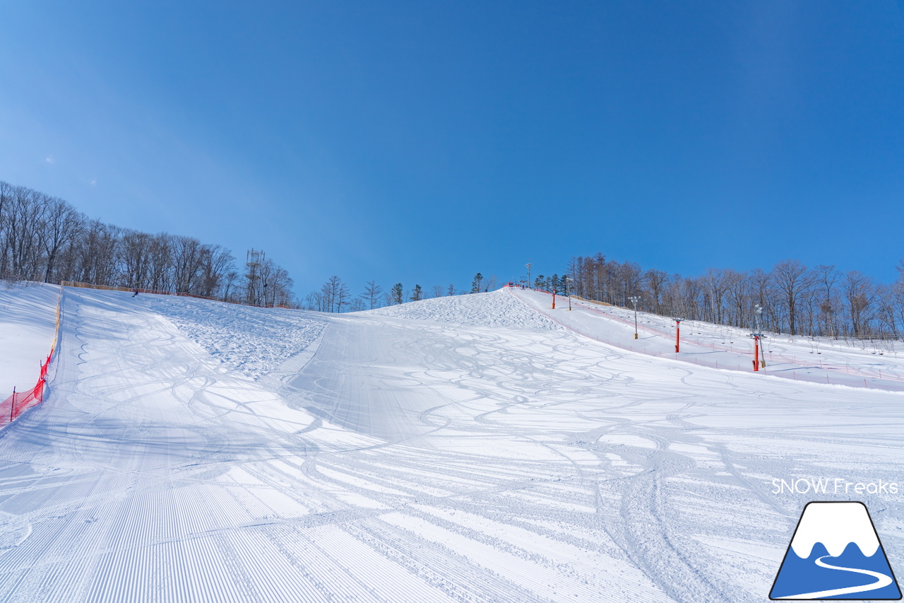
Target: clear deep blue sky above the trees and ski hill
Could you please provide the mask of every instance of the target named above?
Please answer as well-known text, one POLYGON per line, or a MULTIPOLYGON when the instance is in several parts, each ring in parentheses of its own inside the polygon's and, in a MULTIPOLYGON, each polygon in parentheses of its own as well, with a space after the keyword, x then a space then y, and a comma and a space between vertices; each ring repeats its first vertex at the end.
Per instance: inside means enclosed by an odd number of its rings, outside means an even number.
POLYGON ((904 4, 5 2, 0 179, 302 296, 904 257, 904 4))

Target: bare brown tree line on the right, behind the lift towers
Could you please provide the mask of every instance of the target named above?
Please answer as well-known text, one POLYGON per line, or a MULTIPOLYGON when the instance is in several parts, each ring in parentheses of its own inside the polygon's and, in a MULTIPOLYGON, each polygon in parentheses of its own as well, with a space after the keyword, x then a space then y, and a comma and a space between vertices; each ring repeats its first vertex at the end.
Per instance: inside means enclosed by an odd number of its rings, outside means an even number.
POLYGON ((904 335, 904 261, 898 271, 899 279, 886 284, 858 271, 785 260, 768 272, 711 268, 687 277, 596 254, 573 257, 565 276, 541 275, 533 284, 626 308, 637 297, 638 310, 745 329, 897 339, 904 335))

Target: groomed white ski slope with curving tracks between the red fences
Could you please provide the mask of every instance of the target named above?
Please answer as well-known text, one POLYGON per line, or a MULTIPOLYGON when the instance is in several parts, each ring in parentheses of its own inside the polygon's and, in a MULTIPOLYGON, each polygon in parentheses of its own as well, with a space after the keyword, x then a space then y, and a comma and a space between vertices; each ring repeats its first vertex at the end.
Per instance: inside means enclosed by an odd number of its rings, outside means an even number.
POLYGON ((543 295, 66 289, 48 396, 0 431, 0 600, 765 601, 805 503, 852 500, 779 480, 904 484, 900 393, 632 349, 543 295))

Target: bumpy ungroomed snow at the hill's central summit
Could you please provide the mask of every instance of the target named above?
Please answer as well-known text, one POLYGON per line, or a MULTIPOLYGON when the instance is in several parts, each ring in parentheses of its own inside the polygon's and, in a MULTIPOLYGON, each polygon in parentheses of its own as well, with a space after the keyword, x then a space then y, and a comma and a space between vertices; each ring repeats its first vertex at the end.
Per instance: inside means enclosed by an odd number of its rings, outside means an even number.
POLYGON ((505 289, 470 295, 436 297, 362 313, 413 321, 448 322, 469 327, 560 329, 555 322, 532 311, 505 289))

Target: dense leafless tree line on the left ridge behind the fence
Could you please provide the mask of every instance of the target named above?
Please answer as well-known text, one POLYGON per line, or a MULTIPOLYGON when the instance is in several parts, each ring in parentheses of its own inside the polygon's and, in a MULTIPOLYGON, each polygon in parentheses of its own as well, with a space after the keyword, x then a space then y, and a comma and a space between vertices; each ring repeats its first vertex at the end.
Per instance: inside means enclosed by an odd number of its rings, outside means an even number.
POLYGON ((0 278, 89 282, 259 306, 297 305, 287 271, 262 252, 250 250, 246 263, 239 265, 219 244, 108 225, 59 197, 3 181, 0 278))

